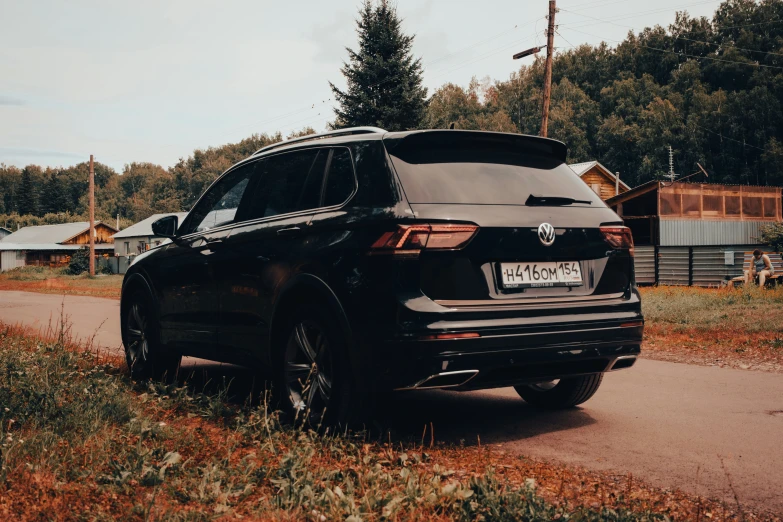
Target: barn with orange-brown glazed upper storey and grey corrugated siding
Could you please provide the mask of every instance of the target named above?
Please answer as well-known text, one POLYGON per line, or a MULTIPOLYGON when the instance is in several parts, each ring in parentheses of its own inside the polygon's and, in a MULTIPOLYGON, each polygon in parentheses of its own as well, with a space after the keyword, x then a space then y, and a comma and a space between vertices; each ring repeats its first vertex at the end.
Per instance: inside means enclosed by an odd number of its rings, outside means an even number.
POLYGON ((718 286, 781 222, 780 187, 650 181, 606 204, 633 232, 640 284, 718 286))

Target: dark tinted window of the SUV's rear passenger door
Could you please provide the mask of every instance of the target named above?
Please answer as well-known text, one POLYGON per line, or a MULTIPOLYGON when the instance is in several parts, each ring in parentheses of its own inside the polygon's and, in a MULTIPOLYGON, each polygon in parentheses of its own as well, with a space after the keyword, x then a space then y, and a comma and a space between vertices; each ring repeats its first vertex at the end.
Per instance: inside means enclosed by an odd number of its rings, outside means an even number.
POLYGON ((327 157, 328 150, 314 149, 264 160, 250 218, 318 207, 327 157))

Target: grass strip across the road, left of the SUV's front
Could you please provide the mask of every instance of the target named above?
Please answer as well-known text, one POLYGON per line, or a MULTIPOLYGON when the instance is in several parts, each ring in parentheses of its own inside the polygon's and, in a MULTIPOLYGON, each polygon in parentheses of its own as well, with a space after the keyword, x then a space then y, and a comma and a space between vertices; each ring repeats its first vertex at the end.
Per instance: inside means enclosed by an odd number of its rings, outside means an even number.
POLYGON ((0 273, 0 290, 120 298, 122 275, 69 275, 63 269, 25 266, 0 273))

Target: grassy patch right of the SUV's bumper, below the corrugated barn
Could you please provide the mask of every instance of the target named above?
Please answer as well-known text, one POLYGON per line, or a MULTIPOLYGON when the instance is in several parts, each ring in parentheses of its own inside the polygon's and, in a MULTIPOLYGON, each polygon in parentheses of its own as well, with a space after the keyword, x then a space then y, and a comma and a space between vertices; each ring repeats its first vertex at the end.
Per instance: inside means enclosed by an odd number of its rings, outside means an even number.
POLYGON ((783 288, 642 288, 645 357, 783 371, 783 288))

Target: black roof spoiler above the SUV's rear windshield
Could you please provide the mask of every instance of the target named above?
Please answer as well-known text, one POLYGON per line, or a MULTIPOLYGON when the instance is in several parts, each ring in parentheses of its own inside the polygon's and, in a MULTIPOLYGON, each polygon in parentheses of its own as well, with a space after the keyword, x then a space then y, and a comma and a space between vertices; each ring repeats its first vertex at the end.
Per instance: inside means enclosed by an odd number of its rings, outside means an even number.
POLYGON ((526 134, 507 132, 465 131, 465 130, 428 130, 407 133, 387 134, 383 139, 387 150, 404 153, 405 150, 421 148, 455 148, 465 145, 481 145, 515 153, 544 156, 565 162, 568 147, 562 141, 526 134))

